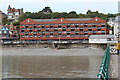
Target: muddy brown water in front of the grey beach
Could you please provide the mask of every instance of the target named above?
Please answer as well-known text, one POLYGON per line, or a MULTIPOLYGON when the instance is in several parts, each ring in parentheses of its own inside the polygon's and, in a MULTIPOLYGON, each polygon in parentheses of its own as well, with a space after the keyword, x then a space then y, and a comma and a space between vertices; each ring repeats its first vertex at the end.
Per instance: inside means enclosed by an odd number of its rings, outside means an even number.
POLYGON ((102 56, 3 56, 3 78, 96 78, 102 56))

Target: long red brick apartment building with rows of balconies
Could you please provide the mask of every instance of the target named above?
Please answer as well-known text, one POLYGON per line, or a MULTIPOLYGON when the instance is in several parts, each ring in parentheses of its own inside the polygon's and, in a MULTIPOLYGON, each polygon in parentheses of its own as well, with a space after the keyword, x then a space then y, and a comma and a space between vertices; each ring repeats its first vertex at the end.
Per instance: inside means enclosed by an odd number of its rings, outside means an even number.
POLYGON ((105 35, 106 21, 99 18, 26 19, 20 23, 20 40, 88 41, 90 35, 105 35))

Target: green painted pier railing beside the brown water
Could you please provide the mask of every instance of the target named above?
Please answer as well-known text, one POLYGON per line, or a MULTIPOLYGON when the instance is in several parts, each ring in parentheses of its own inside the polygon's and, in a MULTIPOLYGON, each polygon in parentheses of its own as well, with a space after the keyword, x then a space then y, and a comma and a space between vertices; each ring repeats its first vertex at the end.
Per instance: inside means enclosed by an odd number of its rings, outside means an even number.
POLYGON ((110 46, 107 47, 101 66, 99 74, 97 75, 98 80, 108 80, 109 79, 109 65, 110 65, 110 46))

